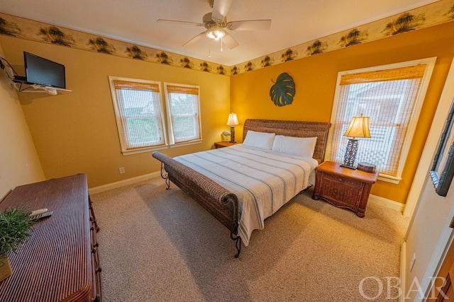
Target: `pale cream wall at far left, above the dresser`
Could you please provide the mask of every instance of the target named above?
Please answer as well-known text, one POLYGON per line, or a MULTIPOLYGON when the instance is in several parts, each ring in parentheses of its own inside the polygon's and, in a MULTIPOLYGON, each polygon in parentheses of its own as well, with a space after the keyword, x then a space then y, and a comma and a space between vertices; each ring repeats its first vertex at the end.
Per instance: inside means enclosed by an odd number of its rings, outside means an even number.
MULTIPOLYGON (((4 57, 1 46, 0 56, 4 57)), ((1 69, 0 139, 1 200, 18 185, 45 180, 18 95, 1 69)))

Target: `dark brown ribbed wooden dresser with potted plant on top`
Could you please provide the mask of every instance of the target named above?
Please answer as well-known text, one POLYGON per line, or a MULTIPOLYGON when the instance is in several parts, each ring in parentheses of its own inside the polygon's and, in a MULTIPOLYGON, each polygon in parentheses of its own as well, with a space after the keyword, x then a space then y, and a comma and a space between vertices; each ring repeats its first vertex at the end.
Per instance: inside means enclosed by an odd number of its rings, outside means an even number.
POLYGON ((16 187, 0 211, 25 206, 53 211, 9 256, 13 274, 0 282, 0 301, 101 301, 96 231, 87 175, 16 187))

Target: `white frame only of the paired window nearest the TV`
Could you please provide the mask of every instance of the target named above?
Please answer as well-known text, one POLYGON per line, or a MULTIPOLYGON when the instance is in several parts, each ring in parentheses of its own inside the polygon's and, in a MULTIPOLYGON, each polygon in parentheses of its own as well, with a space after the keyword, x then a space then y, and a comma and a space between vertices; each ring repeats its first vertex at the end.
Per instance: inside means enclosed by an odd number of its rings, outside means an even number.
POLYGON ((131 78, 123 78, 123 77, 118 77, 118 76, 109 76, 109 86, 111 88, 111 96, 112 96, 112 103, 114 104, 114 112, 115 112, 115 120, 116 120, 116 126, 117 126, 117 132, 118 132, 118 139, 120 140, 120 146, 121 146, 121 153, 123 156, 126 155, 131 155, 131 154, 136 154, 136 153, 143 153, 143 152, 149 152, 149 151, 157 151, 157 150, 162 150, 162 149, 167 149, 167 131, 165 127, 165 115, 164 115, 164 106, 162 103, 162 88, 161 88, 161 82, 160 81, 150 81, 150 80, 143 80, 143 79, 131 79, 131 78), (114 81, 128 81, 128 82, 133 82, 133 83, 150 83, 150 84, 155 84, 159 87, 159 100, 158 100, 158 105, 159 105, 159 112, 158 115, 160 115, 160 119, 162 121, 161 127, 162 127, 162 137, 164 144, 160 144, 157 146, 143 146, 143 147, 137 147, 133 149, 128 149, 128 144, 127 144, 127 138, 126 138, 126 130, 124 128, 123 122, 122 122, 122 111, 119 108, 118 104, 118 99, 116 95, 116 88, 114 85, 114 81))

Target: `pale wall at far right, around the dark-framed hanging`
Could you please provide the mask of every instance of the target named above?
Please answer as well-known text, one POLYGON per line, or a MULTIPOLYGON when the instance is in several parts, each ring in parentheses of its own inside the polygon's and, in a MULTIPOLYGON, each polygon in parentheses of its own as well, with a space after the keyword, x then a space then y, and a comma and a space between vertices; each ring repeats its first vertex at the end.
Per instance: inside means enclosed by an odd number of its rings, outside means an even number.
MULTIPOLYGON (((430 152, 435 155, 453 98, 454 62, 451 64, 423 154, 430 152)), ((436 194, 428 171, 426 175, 416 212, 406 235, 405 301, 425 301, 419 291, 421 290, 423 296, 426 295, 426 289, 430 288, 430 277, 438 274, 438 265, 443 261, 445 247, 453 233, 453 229, 448 226, 454 214, 454 183, 450 185, 447 196, 441 197, 436 194), (416 262, 410 272, 410 262, 415 254, 416 262)))

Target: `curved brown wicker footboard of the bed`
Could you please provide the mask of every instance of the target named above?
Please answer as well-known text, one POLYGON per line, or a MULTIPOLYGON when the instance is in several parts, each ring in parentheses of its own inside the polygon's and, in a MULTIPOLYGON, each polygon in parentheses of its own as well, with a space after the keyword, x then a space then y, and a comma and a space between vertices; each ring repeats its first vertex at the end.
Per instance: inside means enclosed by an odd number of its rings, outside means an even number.
MULTIPOLYGON (((175 183, 231 231, 231 238, 236 240, 238 251, 236 257, 238 257, 241 239, 238 236, 238 197, 236 194, 163 153, 153 152, 153 157, 162 163, 162 178, 168 178, 175 183)), ((170 183, 167 182, 167 189, 169 186, 170 183)))

